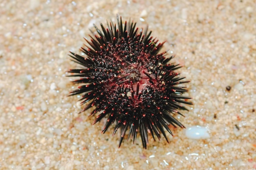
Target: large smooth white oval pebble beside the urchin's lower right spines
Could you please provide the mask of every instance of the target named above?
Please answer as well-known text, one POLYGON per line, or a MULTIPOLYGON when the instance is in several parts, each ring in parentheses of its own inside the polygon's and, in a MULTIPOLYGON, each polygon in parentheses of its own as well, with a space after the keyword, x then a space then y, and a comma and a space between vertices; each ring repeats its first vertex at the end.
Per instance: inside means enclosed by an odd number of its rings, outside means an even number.
POLYGON ((207 139, 210 137, 207 128, 203 126, 191 126, 186 129, 186 137, 189 139, 207 139))

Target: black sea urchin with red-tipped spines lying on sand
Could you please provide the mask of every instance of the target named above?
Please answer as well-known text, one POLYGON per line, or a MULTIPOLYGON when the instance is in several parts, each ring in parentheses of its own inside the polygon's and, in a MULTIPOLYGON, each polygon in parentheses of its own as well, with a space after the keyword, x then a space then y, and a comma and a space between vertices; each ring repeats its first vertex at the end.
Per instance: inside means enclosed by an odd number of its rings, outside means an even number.
MULTIPOLYGON (((166 57, 166 51, 159 53, 163 43, 150 37, 151 31, 136 28, 135 22, 122 23, 117 17, 117 25, 110 22, 107 28, 101 24, 101 30, 95 26, 98 35, 86 40, 87 49, 81 47, 85 57, 70 52, 72 61, 83 66, 81 69, 70 69, 73 81, 78 86, 70 95, 81 94, 81 112, 94 106, 90 115, 97 114, 93 124, 107 117, 102 132, 116 122, 113 135, 121 128, 119 147, 128 130, 128 139, 136 141, 140 133, 143 147, 148 144, 148 133, 153 139, 160 139, 166 129, 171 135, 169 125, 184 126, 173 117, 178 110, 187 110, 182 104, 191 97, 183 96, 187 92, 175 72, 181 66, 168 64, 174 57, 166 57), (155 135, 155 136, 154 136, 155 135)), ((80 113, 81 113, 80 112, 80 113)))

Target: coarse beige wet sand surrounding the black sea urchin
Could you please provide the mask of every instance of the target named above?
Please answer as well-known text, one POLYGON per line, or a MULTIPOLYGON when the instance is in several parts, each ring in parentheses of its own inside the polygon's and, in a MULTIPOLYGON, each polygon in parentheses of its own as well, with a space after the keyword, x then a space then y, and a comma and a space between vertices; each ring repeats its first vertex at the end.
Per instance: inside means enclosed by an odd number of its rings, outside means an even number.
POLYGON ((255 0, 0 1, 1 170, 255 170, 255 104, 255 0), (103 135, 90 110, 77 114, 68 51, 117 13, 166 40, 191 80, 194 105, 177 119, 208 139, 171 128, 169 144, 150 136, 147 150, 139 138, 118 148, 113 127, 103 135))

